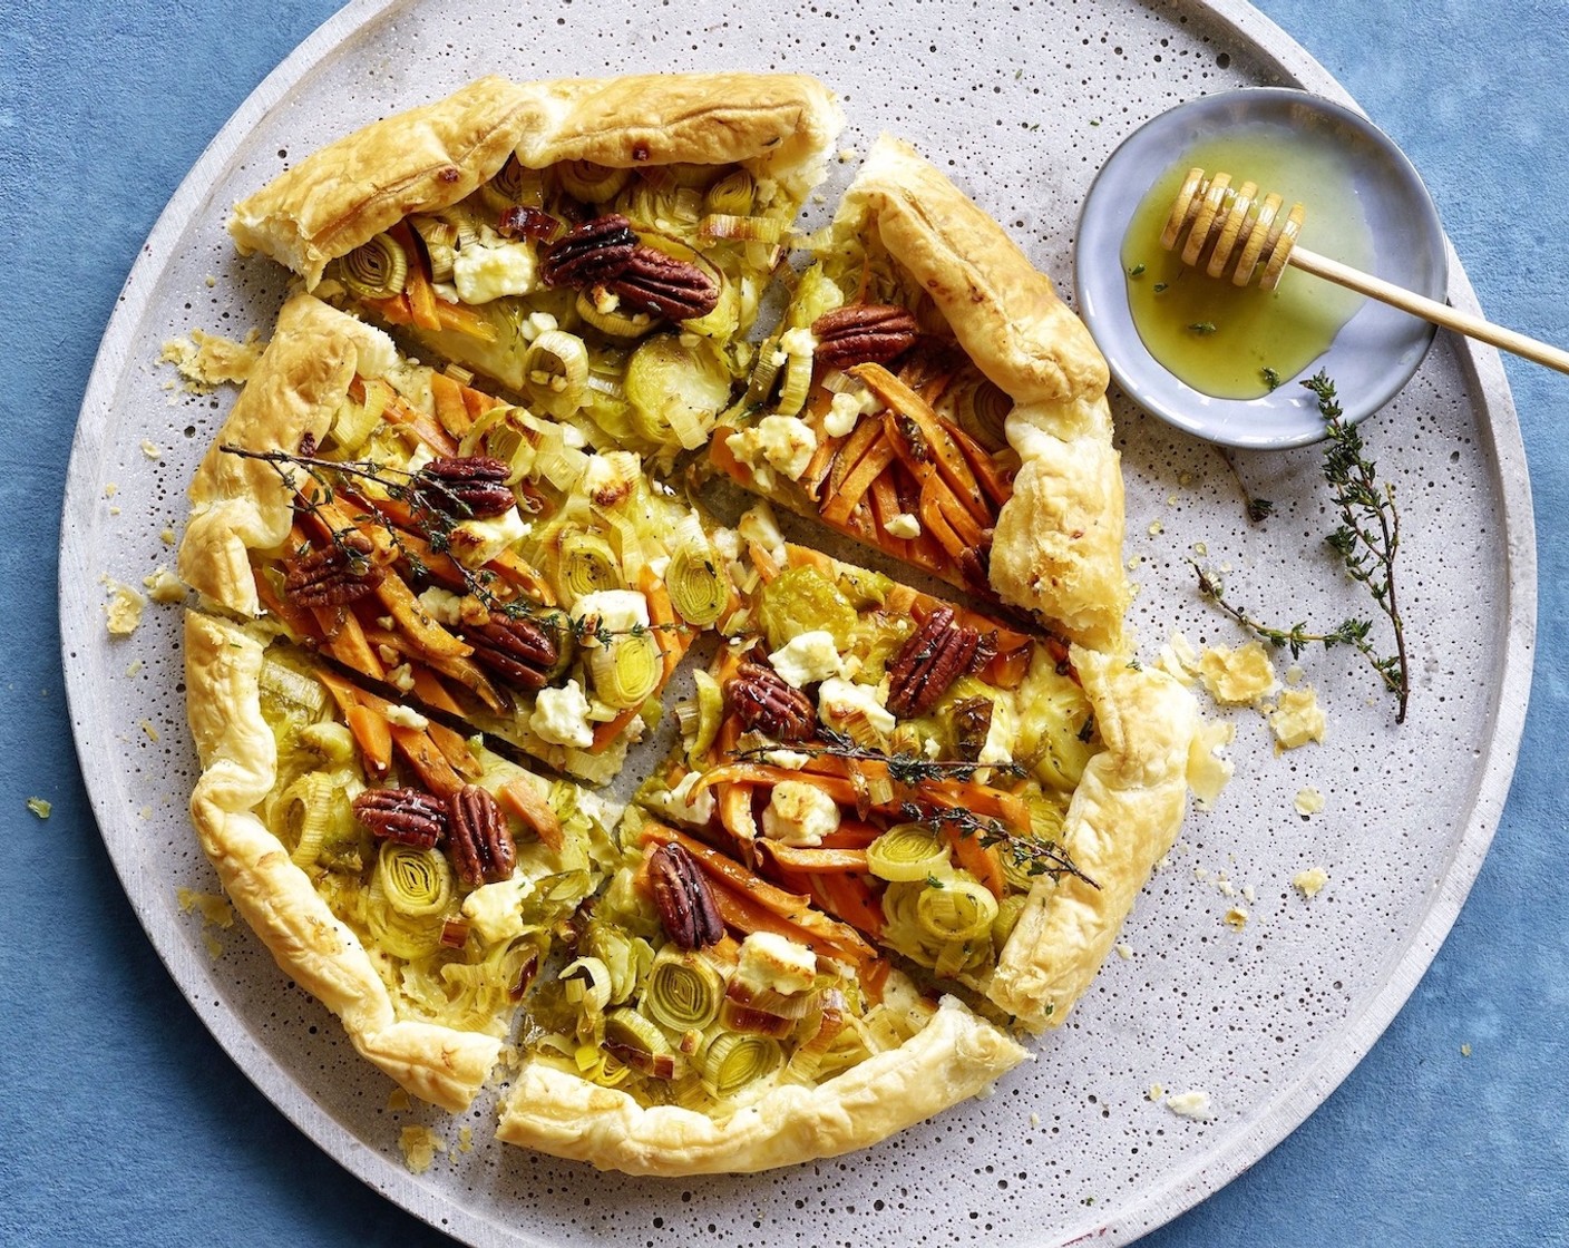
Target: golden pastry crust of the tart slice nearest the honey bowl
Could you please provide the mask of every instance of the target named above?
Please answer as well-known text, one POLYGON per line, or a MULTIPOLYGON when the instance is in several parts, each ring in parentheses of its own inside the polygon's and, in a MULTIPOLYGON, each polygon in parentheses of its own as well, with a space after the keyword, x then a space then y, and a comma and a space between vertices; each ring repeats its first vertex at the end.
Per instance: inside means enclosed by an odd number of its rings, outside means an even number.
POLYGON ((836 221, 876 231, 1014 399, 1007 436, 1023 466, 993 535, 992 587, 1072 640, 1120 650, 1122 466, 1106 361, 1089 331, 1003 228, 907 143, 877 141, 836 221))

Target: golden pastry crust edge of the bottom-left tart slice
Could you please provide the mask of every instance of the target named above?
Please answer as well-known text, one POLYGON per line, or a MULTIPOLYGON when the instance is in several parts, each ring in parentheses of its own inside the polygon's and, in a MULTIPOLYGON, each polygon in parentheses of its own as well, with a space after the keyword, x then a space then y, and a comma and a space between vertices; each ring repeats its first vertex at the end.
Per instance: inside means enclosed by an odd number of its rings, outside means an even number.
POLYGON ((414 1096, 457 1113, 490 1077, 501 1041, 399 1020, 370 953, 256 816, 276 777, 262 719, 262 644, 235 625, 185 615, 185 706, 202 772, 191 819, 240 917, 278 965, 344 1024, 355 1049, 414 1096))

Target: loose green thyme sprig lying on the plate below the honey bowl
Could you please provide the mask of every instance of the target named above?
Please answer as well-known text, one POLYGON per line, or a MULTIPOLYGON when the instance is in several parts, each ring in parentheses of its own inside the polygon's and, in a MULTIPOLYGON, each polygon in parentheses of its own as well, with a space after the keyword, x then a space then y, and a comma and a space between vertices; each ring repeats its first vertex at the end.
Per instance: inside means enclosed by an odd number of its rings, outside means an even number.
POLYGON ((1260 640, 1288 648, 1293 658, 1310 645, 1323 645, 1326 650, 1337 645, 1352 647, 1378 672, 1384 688, 1395 695, 1395 722, 1404 724, 1411 700, 1411 667, 1404 622, 1395 593, 1395 556, 1400 553, 1395 487, 1378 479, 1373 462, 1365 455, 1362 435, 1356 425, 1346 424, 1335 397, 1335 385, 1327 374, 1318 372, 1302 385, 1318 400, 1318 411, 1324 418, 1327 432, 1323 474, 1340 513, 1340 524, 1327 538, 1329 546, 1351 579, 1367 586, 1373 601, 1389 619, 1395 634, 1395 653, 1381 655, 1373 645, 1371 620, 1346 619, 1327 633, 1312 631, 1307 623, 1296 623, 1291 628, 1261 623, 1225 600, 1224 586, 1214 573, 1200 568, 1191 559, 1188 562, 1199 576, 1199 592, 1205 598, 1260 640))

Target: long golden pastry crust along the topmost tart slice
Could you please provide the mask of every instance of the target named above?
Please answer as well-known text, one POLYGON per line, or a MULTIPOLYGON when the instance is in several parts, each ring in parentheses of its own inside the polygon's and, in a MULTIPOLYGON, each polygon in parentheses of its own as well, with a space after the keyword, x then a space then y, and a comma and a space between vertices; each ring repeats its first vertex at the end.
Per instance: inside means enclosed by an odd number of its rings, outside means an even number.
POLYGON ((331 261, 458 203, 513 154, 524 168, 736 163, 803 198, 841 124, 828 89, 799 74, 488 77, 311 154, 238 203, 229 234, 314 287, 331 261))

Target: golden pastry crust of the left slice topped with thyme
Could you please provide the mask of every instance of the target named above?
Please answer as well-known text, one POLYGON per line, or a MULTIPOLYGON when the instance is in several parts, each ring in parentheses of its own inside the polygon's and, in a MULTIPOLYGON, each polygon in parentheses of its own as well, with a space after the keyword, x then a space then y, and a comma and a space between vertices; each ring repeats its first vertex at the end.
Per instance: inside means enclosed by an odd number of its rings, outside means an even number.
POLYGON ((311 295, 297 295, 207 449, 190 487, 191 516, 180 542, 179 575, 210 603, 260 614, 249 551, 289 535, 293 494, 270 463, 220 447, 287 451, 320 438, 358 372, 380 377, 395 361, 392 339, 311 295))

